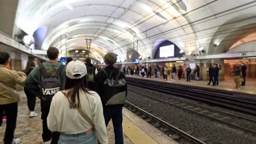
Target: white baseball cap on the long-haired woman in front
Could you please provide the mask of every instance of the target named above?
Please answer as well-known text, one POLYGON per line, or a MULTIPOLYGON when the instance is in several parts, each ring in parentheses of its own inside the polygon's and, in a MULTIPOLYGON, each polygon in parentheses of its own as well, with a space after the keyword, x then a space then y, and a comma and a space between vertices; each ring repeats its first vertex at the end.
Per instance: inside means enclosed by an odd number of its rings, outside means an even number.
POLYGON ((81 61, 71 61, 67 64, 66 76, 69 79, 81 79, 87 74, 86 65, 81 61), (79 76, 74 76, 79 75, 79 76))

